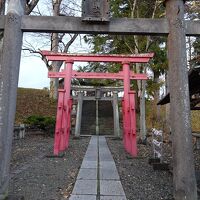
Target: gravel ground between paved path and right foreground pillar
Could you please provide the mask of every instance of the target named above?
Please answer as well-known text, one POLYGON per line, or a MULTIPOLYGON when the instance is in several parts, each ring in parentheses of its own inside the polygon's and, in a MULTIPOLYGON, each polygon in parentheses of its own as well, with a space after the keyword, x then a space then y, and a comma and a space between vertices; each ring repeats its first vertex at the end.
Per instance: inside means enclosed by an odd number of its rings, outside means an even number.
POLYGON ((159 200, 172 198, 172 175, 154 171, 148 164, 152 149, 138 145, 139 155, 133 159, 124 151, 121 140, 107 138, 128 200, 159 200))

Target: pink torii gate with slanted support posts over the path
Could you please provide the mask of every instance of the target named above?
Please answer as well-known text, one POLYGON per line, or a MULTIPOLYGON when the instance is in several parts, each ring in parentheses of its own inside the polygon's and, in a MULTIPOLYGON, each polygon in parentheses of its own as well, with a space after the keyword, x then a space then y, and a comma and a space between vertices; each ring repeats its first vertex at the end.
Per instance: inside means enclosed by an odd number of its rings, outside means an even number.
POLYGON ((130 90, 130 80, 146 80, 145 74, 135 74, 130 70, 130 63, 147 63, 153 53, 138 55, 79 55, 42 51, 42 55, 50 61, 63 61, 62 72, 49 72, 49 78, 64 78, 64 89, 59 90, 56 116, 54 155, 66 150, 69 146, 70 117, 72 98, 70 95, 71 79, 117 79, 124 80, 123 108, 123 143, 126 151, 137 156, 135 92, 130 90), (74 62, 114 62, 121 63, 123 71, 118 73, 77 72, 73 70, 74 62))

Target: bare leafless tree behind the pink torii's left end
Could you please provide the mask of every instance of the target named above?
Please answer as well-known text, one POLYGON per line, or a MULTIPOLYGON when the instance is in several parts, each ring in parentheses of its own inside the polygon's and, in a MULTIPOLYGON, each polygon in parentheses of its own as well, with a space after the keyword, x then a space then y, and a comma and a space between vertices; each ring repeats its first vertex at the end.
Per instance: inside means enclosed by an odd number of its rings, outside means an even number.
MULTIPOLYGON (((76 16, 80 14, 80 1, 75 0, 47 0, 46 5, 50 11, 50 15, 53 16, 76 16)), ((37 15, 42 15, 40 8, 35 9, 37 15)), ((46 46, 53 52, 64 52, 67 53, 69 48, 77 39, 78 34, 65 34, 65 33, 52 33, 52 34, 34 34, 36 38, 43 38, 48 41, 48 44, 40 42, 39 46, 46 46)), ((41 47, 43 48, 43 47, 41 47)), ((25 41, 24 50, 29 50, 32 53, 38 53, 38 49, 31 45, 28 41, 25 41)), ((40 48, 39 48, 40 49, 40 48)), ((62 66, 62 62, 53 61, 48 62, 44 56, 41 55, 48 71, 58 72, 62 66)), ((50 79, 50 98, 57 99, 58 97, 58 79, 50 79)))

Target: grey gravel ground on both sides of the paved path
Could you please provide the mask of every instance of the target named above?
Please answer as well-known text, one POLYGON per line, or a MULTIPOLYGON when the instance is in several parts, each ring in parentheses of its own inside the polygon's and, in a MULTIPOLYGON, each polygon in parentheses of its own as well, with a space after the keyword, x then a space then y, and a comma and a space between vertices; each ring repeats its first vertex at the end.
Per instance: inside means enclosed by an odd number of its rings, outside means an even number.
MULTIPOLYGON (((51 137, 28 134, 25 139, 14 140, 10 194, 22 195, 25 200, 67 200, 89 140, 89 137, 71 139, 62 158, 46 157, 53 152, 51 137)), ((128 200, 172 199, 172 174, 154 171, 148 164, 152 157, 150 145, 138 145, 139 155, 133 159, 124 151, 121 140, 107 138, 107 142, 128 200)), ((170 149, 166 143, 164 158, 167 162, 171 162, 170 149)), ((195 150, 194 155, 196 170, 200 170, 200 150, 195 150)))

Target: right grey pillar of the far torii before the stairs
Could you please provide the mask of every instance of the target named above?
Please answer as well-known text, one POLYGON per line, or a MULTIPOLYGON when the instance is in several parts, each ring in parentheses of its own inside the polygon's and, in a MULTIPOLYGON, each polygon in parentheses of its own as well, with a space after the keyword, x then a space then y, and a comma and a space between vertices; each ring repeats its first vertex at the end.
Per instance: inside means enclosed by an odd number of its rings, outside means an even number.
POLYGON ((118 92, 113 91, 113 118, 114 118, 114 135, 120 137, 119 127, 119 106, 118 106, 118 92))

